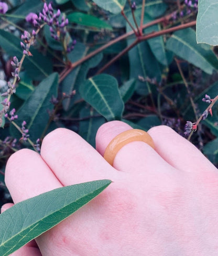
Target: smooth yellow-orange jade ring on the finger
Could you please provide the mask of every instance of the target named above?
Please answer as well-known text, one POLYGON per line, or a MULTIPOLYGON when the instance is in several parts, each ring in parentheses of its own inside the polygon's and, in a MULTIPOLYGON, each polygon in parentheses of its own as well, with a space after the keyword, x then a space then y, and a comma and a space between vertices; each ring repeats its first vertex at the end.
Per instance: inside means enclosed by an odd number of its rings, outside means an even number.
POLYGON ((118 134, 113 140, 107 145, 104 152, 104 159, 113 166, 114 158, 117 152, 126 144, 133 141, 142 141, 147 143, 152 148, 155 148, 155 143, 152 140, 151 136, 139 129, 131 129, 125 132, 118 134))

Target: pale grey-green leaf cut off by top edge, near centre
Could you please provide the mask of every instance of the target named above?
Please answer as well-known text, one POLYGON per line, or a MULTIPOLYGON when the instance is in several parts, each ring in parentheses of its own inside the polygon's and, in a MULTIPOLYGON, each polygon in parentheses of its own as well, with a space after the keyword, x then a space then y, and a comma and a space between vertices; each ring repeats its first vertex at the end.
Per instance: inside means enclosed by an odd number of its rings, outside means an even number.
POLYGON ((111 13, 120 13, 126 4, 126 0, 93 0, 93 2, 111 13))

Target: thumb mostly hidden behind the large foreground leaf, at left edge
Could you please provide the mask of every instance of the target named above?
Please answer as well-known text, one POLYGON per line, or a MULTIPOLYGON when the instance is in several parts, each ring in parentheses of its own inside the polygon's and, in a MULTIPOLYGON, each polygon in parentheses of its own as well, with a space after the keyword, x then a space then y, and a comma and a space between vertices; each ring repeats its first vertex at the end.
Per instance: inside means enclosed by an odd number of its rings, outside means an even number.
MULTIPOLYGON (((7 204, 4 204, 1 208, 1 214, 2 212, 6 211, 10 207, 14 206, 14 204, 8 202, 7 204)), ((10 254, 12 256, 41 256, 41 252, 39 251, 39 248, 37 246, 37 243, 35 240, 30 241, 29 243, 25 244, 25 246, 21 247, 14 253, 10 254)))

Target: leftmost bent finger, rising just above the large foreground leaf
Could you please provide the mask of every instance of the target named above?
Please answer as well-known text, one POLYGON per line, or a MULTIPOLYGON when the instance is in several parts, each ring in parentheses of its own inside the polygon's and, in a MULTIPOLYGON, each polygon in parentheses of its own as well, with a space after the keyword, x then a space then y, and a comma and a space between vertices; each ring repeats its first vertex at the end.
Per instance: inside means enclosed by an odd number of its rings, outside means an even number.
POLYGON ((5 183, 15 203, 62 187, 40 155, 27 149, 8 159, 5 183))

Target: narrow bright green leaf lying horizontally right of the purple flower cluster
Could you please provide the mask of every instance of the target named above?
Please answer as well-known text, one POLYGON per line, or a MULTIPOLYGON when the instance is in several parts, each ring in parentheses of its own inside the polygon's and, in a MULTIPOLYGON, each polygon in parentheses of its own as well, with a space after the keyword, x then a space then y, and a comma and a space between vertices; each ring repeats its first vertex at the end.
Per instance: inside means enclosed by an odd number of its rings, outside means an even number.
POLYGON ((94 28, 104 28, 112 30, 113 28, 107 24, 104 20, 101 20, 95 16, 74 12, 69 14, 68 16, 69 22, 77 23, 87 27, 94 27, 94 28))

